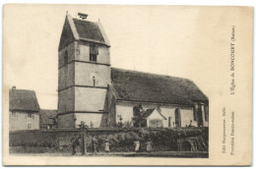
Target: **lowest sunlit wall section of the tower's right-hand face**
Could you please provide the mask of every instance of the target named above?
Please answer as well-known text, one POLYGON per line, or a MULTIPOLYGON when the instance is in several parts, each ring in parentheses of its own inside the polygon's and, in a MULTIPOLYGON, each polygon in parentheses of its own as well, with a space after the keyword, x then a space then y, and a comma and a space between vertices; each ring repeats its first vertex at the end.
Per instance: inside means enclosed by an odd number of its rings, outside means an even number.
POLYGON ((82 121, 86 123, 86 125, 91 127, 91 122, 93 123, 93 128, 99 128, 103 126, 101 123, 102 121, 106 121, 105 116, 103 116, 102 113, 76 113, 76 128, 79 128, 79 125, 81 124, 82 121), (104 118, 103 120, 101 120, 104 118))

